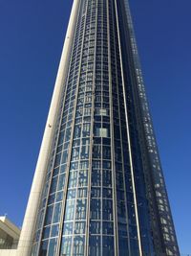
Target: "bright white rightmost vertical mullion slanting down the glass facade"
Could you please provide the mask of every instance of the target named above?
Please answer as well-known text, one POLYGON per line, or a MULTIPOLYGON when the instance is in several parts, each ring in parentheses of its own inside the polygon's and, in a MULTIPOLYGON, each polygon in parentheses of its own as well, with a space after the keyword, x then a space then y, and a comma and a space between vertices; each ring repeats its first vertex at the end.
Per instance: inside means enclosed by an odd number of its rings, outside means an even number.
POLYGON ((118 25, 117 0, 115 0, 115 6, 116 6, 116 16, 117 16, 118 48, 119 48, 122 87, 123 87, 123 95, 124 95, 123 98, 124 98, 125 117, 126 117, 126 125, 127 125, 128 150, 129 150, 130 169, 131 169, 131 176, 132 176, 132 186, 133 186, 133 193, 134 193, 135 212, 136 212, 136 221, 137 221, 137 229, 138 229, 138 249, 139 249, 139 256, 142 256, 140 228, 139 228, 139 221, 138 221, 138 202, 137 202, 136 184, 135 184, 135 176, 134 176, 132 145, 131 145, 130 128, 129 128, 129 116, 128 116, 127 102, 126 102, 126 91, 125 91, 125 83, 124 83, 124 75, 123 75, 122 53, 121 53, 121 43, 120 43, 120 34, 119 34, 119 25, 118 25))

